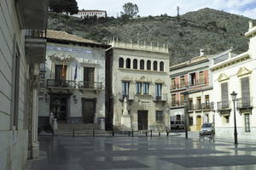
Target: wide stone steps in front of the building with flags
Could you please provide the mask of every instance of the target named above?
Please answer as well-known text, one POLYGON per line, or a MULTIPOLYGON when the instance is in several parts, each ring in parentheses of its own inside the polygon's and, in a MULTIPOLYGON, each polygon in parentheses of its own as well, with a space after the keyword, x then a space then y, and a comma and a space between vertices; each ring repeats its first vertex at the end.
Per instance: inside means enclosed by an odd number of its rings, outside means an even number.
POLYGON ((55 135, 61 136, 92 136, 95 135, 107 135, 105 130, 101 130, 98 125, 84 124, 84 123, 59 123, 58 129, 55 130, 55 135), (94 131, 94 132, 93 132, 94 131))

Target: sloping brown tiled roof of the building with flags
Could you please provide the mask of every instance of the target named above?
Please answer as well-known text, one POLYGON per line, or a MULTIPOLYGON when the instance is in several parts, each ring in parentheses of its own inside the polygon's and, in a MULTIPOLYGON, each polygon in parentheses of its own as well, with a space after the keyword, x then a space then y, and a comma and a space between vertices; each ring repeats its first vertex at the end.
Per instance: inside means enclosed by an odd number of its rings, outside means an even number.
POLYGON ((78 37, 73 34, 69 34, 65 31, 47 30, 46 37, 50 38, 50 39, 56 39, 56 40, 67 40, 67 41, 72 41, 72 42, 87 42, 87 43, 100 44, 98 42, 94 42, 94 41, 85 39, 83 37, 78 37))

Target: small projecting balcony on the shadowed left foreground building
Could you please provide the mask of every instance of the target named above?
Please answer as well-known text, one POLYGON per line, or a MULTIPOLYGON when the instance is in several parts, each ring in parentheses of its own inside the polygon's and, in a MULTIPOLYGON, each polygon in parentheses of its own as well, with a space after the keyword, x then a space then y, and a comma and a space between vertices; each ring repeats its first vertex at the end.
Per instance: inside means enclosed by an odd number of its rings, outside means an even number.
POLYGON ((26 55, 30 64, 43 63, 46 53, 46 31, 26 30, 26 55))

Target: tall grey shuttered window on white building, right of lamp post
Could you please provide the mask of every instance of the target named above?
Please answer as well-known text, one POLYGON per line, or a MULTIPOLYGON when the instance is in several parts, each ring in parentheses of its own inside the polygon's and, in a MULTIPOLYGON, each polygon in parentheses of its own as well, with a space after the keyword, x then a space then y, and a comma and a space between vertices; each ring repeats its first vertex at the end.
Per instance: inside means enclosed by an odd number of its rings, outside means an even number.
POLYGON ((241 78, 241 105, 250 105, 250 82, 249 77, 241 78))

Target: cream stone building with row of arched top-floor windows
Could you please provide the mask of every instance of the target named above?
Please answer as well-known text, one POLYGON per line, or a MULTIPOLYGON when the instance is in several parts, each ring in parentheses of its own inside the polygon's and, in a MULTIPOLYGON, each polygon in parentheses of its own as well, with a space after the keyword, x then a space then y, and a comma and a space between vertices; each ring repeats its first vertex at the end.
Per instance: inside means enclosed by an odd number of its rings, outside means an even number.
POLYGON ((108 128, 124 130, 127 112, 133 130, 166 130, 170 127, 168 47, 110 42, 107 51, 106 117, 108 128))

